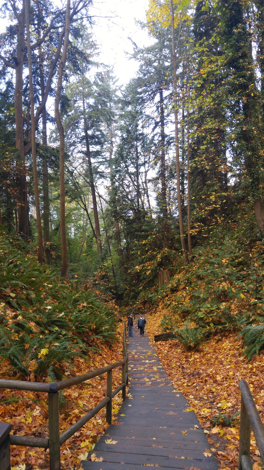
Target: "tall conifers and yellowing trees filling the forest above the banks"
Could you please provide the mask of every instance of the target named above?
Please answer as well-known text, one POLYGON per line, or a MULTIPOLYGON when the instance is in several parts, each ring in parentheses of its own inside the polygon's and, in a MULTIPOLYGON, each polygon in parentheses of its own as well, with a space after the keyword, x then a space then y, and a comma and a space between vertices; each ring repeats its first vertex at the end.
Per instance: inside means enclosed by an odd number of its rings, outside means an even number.
POLYGON ((262 5, 150 0, 124 86, 98 62, 92 7, 2 5, 3 237, 124 305, 156 305, 201 268, 183 319, 224 321, 245 293, 255 303, 237 312, 261 314, 262 5))

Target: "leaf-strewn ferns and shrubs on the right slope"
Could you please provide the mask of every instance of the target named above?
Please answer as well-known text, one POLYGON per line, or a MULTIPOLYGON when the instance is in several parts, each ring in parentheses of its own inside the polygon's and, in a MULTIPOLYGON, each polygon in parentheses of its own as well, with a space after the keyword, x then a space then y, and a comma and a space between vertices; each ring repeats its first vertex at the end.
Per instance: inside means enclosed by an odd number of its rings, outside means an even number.
POLYGON ((223 233, 219 227, 194 247, 192 263, 175 262, 167 286, 146 294, 163 311, 163 330, 177 332, 186 349, 232 331, 243 337, 249 360, 264 349, 264 242, 246 230, 246 224, 223 233))

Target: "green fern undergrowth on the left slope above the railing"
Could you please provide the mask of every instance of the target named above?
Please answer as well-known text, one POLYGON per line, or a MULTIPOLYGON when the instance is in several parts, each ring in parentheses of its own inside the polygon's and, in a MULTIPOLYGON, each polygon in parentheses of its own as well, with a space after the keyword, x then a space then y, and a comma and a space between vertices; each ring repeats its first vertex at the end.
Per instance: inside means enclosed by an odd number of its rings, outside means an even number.
POLYGON ((0 360, 13 374, 61 379, 97 340, 115 341, 116 316, 93 292, 40 266, 19 237, 0 238, 0 360))

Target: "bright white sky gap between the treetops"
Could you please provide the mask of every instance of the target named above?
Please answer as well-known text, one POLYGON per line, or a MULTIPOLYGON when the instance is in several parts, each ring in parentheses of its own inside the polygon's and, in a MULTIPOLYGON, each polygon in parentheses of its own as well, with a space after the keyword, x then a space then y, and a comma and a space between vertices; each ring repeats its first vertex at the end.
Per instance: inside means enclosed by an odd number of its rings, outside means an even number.
POLYGON ((132 38, 139 46, 153 42, 146 30, 135 24, 135 20, 146 21, 148 0, 94 0, 91 13, 98 16, 93 34, 101 50, 101 62, 112 65, 119 85, 126 84, 135 76, 138 64, 129 59, 126 52, 132 52, 132 38), (108 17, 107 17, 108 16, 108 17))

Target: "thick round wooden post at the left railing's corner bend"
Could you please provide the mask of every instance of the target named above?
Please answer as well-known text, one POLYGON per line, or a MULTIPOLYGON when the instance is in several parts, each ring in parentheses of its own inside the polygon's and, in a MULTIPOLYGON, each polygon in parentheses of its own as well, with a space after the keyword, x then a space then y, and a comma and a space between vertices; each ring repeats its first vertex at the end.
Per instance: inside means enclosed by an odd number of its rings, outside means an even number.
POLYGON ((59 393, 48 393, 49 469, 61 470, 59 393))

